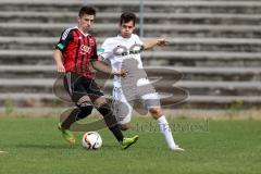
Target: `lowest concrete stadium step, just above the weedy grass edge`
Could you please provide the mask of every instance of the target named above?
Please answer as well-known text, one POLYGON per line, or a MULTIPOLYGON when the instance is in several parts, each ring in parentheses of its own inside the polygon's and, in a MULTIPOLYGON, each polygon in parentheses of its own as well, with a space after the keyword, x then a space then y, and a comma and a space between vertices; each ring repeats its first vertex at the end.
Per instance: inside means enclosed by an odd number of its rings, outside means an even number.
MULTIPOLYGON (((36 107, 74 107, 73 103, 67 103, 59 100, 52 94, 0 94, 0 105, 7 109, 15 108, 36 108, 36 107)), ((170 108, 164 107, 163 108, 170 108)), ((260 109, 260 97, 247 96, 189 96, 185 101, 175 103, 173 109, 260 109)))

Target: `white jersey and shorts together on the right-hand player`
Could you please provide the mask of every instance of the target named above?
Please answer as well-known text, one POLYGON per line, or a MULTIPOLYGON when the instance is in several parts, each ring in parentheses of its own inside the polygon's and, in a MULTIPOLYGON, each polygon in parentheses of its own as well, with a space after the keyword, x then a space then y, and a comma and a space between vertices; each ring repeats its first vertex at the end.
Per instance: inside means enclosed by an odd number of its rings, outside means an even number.
POLYGON ((113 107, 120 124, 130 122, 133 104, 137 102, 136 99, 141 99, 141 103, 138 105, 145 111, 160 105, 159 96, 154 88, 148 87, 150 82, 142 70, 140 58, 144 42, 134 34, 130 38, 123 38, 120 35, 108 38, 99 49, 99 55, 105 61, 110 61, 112 69, 127 70, 128 72, 126 77, 121 78, 114 75, 113 79, 113 107))

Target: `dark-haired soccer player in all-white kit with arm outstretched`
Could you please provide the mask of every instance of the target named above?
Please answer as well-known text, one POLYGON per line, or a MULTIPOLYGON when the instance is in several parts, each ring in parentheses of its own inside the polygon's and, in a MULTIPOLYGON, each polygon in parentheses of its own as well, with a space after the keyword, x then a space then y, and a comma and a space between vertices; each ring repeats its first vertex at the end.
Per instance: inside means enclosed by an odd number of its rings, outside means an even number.
POLYGON ((119 101, 114 104, 116 119, 123 130, 130 128, 134 101, 139 99, 152 117, 157 120, 170 149, 183 151, 184 149, 178 147, 173 139, 171 128, 160 107, 158 94, 153 87, 150 87, 148 78, 140 76, 142 74, 140 73, 142 72, 140 71, 142 70, 140 52, 154 46, 164 46, 167 41, 164 38, 160 38, 142 42, 139 36, 133 34, 135 21, 136 16, 134 13, 123 13, 120 18, 120 35, 105 39, 99 49, 100 60, 110 61, 114 70, 125 69, 127 71, 125 78, 114 76, 113 79, 113 98, 115 101, 119 101), (137 79, 137 76, 140 78, 137 79), (140 92, 140 87, 142 86, 150 88, 145 89, 146 92, 142 94, 140 92))

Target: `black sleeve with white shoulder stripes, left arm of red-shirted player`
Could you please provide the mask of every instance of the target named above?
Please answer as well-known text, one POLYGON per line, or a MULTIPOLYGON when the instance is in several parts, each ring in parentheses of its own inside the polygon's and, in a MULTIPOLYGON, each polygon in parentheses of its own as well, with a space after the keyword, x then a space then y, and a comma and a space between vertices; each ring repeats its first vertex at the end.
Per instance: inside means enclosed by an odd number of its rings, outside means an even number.
POLYGON ((72 29, 69 28, 62 33, 60 40, 55 46, 55 49, 59 49, 60 51, 63 52, 71 40, 73 40, 73 33, 72 29))

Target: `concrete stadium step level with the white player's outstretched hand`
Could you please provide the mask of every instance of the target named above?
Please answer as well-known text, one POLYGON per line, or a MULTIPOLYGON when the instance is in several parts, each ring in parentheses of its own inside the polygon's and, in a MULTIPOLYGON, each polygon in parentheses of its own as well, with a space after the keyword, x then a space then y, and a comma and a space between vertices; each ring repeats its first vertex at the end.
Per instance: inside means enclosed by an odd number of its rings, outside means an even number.
MULTIPOLYGON (((144 38, 146 40, 148 38, 144 38)), ((0 37, 1 50, 52 50, 59 37, 0 37)), ((261 52, 261 39, 256 38, 167 38, 170 44, 154 51, 224 51, 261 52)), ((98 47, 104 41, 98 38, 98 47)))

